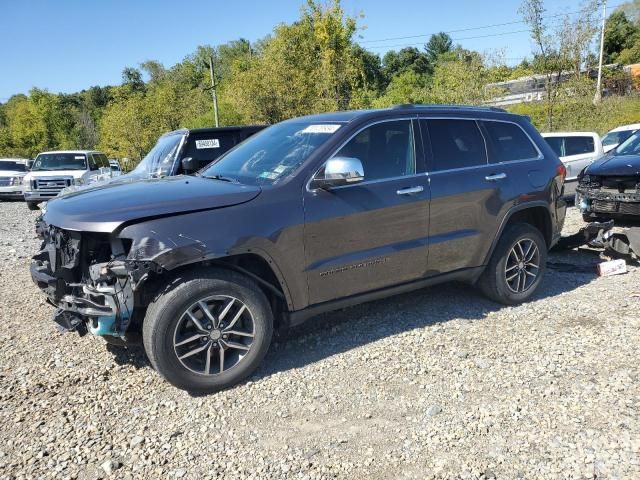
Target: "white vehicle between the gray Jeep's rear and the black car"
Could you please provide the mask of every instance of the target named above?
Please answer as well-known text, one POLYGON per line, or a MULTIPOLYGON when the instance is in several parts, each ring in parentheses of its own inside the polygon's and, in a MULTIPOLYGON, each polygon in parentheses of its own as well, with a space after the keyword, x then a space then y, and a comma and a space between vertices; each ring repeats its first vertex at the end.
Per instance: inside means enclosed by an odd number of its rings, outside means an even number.
POLYGON ((600 135, 595 132, 552 132, 542 136, 567 167, 564 195, 573 198, 582 169, 604 155, 600 135))

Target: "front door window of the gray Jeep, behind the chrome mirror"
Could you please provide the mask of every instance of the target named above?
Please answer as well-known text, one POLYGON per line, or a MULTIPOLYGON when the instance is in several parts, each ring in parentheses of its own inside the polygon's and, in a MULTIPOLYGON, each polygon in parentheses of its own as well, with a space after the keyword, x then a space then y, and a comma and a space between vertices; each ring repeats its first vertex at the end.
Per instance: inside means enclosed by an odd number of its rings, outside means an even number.
POLYGON ((349 140, 335 156, 359 159, 365 180, 413 175, 416 160, 411 120, 372 125, 349 140))

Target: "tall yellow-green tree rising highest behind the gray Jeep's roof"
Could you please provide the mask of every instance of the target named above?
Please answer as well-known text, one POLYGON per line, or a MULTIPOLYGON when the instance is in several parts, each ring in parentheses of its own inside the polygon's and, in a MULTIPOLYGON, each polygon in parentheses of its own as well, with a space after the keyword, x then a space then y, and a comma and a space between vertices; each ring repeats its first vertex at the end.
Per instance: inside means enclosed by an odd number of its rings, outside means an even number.
POLYGON ((348 108, 355 86, 366 78, 353 48, 356 28, 339 0, 308 0, 301 18, 277 26, 259 55, 234 62, 230 103, 246 121, 268 123, 348 108))

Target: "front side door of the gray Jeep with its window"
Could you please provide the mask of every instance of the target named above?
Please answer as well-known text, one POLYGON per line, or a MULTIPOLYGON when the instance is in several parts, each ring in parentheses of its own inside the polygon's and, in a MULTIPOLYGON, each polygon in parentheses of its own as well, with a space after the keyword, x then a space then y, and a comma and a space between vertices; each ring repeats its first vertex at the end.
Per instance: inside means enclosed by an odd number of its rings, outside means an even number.
POLYGON ((396 285, 425 274, 429 188, 417 123, 375 123, 336 154, 358 158, 364 181, 304 192, 309 303, 396 285))

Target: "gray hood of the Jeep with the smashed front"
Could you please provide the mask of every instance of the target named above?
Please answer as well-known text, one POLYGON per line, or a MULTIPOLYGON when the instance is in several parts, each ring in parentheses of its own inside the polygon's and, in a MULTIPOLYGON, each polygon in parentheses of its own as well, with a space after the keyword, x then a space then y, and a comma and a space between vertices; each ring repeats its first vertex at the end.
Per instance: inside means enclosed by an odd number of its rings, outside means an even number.
POLYGON ((260 187, 202 177, 106 183, 47 202, 44 220, 66 230, 113 232, 149 217, 184 214, 248 202, 260 187))

